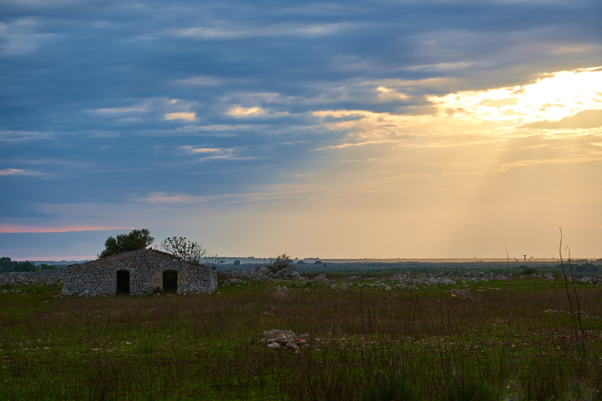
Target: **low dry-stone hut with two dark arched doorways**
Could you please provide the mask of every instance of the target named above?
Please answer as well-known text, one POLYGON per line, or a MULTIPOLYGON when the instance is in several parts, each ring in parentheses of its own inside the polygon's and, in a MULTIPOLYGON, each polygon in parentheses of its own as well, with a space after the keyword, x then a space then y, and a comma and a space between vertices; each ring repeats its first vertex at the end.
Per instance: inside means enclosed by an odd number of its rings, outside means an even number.
POLYGON ((191 265, 157 249, 138 249, 67 266, 62 295, 211 293, 215 268, 191 265))

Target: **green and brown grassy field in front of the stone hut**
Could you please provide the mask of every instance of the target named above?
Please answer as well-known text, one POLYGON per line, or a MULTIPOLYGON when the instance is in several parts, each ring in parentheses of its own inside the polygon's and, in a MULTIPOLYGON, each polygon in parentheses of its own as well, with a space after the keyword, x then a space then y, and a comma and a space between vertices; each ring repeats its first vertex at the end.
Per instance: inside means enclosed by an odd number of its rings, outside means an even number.
POLYGON ((599 286, 577 284, 580 327, 563 280, 469 282, 467 298, 456 281, 107 298, 0 287, 0 399, 602 399, 599 286), (272 328, 309 346, 269 349, 256 334, 272 328))

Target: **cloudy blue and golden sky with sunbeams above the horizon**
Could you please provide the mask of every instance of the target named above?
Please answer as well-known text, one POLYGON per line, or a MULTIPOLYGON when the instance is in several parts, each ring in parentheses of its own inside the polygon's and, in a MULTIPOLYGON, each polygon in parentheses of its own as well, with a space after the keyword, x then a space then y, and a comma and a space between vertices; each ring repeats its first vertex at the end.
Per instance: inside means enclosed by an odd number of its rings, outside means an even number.
MULTIPOLYGON (((602 257, 599 0, 0 7, 2 233, 554 257, 562 225, 602 257)), ((102 250, 81 237, 0 256, 102 250)))

